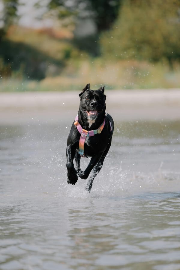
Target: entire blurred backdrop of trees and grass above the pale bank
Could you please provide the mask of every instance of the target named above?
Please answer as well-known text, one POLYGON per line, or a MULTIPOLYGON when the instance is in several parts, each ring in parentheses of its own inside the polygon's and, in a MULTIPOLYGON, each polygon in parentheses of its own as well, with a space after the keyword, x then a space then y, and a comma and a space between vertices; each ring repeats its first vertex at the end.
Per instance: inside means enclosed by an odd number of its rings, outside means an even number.
POLYGON ((180 87, 179 0, 0 0, 0 91, 180 87))

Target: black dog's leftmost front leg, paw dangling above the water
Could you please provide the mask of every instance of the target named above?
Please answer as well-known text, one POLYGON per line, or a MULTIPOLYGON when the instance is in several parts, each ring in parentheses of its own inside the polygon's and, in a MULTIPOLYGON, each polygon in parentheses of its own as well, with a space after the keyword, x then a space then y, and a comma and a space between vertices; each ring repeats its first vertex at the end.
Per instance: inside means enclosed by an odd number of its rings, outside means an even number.
POLYGON ((73 159, 75 156, 76 149, 73 145, 68 145, 66 148, 66 157, 67 157, 67 183, 75 185, 78 179, 77 171, 74 168, 73 159))

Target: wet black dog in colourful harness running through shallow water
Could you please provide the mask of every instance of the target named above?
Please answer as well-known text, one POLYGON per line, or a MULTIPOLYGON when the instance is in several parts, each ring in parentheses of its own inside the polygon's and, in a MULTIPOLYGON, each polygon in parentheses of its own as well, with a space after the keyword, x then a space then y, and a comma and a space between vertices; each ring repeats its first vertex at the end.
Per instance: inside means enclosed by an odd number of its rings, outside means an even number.
POLYGON ((78 176, 87 179, 92 174, 85 189, 90 192, 95 176, 101 170, 104 158, 110 149, 114 122, 106 113, 104 86, 90 90, 89 84, 79 94, 80 107, 75 122, 67 138, 67 183, 76 184, 78 176), (80 169, 80 158, 91 157, 87 168, 80 169), (73 159, 76 161, 74 168, 73 159))

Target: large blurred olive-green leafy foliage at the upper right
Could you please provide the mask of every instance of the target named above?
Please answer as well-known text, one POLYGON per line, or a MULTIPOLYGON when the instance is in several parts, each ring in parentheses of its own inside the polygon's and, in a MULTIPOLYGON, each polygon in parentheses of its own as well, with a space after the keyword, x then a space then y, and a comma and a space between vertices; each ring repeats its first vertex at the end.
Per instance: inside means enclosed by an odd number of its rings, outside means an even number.
POLYGON ((170 62, 180 59, 180 1, 124 1, 112 30, 102 35, 104 55, 170 62))

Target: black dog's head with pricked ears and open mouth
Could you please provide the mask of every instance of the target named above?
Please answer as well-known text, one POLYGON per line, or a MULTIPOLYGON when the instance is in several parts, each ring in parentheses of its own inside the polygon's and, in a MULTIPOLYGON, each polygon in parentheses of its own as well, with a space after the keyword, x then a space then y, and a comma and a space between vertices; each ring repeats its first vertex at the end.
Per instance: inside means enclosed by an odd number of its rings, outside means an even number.
POLYGON ((91 90, 89 83, 79 94, 80 110, 89 120, 95 120, 98 115, 105 115, 106 96, 104 95, 104 86, 98 90, 91 90))

